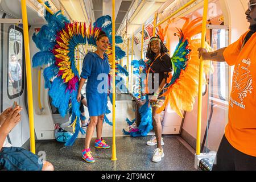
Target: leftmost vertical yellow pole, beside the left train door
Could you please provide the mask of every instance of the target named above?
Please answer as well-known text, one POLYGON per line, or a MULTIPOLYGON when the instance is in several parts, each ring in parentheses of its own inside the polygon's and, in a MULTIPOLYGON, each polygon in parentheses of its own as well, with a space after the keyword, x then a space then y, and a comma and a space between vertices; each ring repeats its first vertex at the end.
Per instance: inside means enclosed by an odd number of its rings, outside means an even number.
POLYGON ((28 116, 30 121, 30 151, 35 154, 35 129, 34 129, 34 107, 30 64, 30 44, 28 38, 27 6, 26 0, 21 0, 22 22, 24 31, 24 49, 26 57, 27 94, 28 94, 28 116))

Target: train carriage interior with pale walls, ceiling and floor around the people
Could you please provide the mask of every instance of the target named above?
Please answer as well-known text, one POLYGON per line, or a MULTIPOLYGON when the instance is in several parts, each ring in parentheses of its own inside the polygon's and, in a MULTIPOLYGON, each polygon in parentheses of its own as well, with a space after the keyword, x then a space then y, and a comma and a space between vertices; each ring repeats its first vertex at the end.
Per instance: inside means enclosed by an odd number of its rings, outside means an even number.
MULTIPOLYGON (((64 143, 56 140, 55 126, 57 123, 70 133, 75 131, 75 127, 70 126, 70 113, 61 115, 59 108, 52 104, 53 100, 49 96, 49 90, 45 88, 47 83, 43 72, 50 63, 32 67, 32 57, 40 52, 33 40, 33 35, 37 35, 41 28, 48 23, 44 17, 46 11, 50 10, 52 13, 60 11, 59 14, 64 15, 69 22, 74 24, 82 22, 89 27, 90 23, 93 24, 101 16, 113 16, 113 1, 47 0, 51 6, 47 10, 43 6, 45 0, 26 0, 28 35, 23 31, 22 1, 0 0, 0 109, 2 113, 7 107, 12 106, 14 101, 23 107, 21 121, 9 133, 7 142, 13 146, 31 150, 32 127, 35 154, 51 162, 57 171, 200 171, 211 169, 208 168, 209 166, 200 166, 200 161, 204 158, 214 160, 228 122, 229 93, 234 68, 224 62, 211 61, 210 71, 204 73, 205 82, 202 85, 201 107, 198 106, 199 102, 196 96, 193 109, 181 111, 183 117, 177 114, 170 105, 167 105, 162 111, 164 158, 161 162, 151 161, 152 152, 156 147, 146 145, 146 142, 155 135, 154 130, 149 131, 146 136, 140 137, 131 137, 125 133, 125 131, 129 131, 127 121, 131 122, 137 119, 137 101, 142 100, 137 95, 137 82, 140 78, 133 72, 134 67, 131 62, 146 59, 150 38, 161 33, 160 28, 165 31, 163 43, 168 48, 169 55, 174 55, 179 43, 179 37, 175 35, 186 22, 183 17, 188 20, 203 17, 204 0, 114 1, 114 31, 115 35, 121 36, 123 39, 118 46, 125 52, 125 56, 115 60, 115 63, 121 65, 129 73, 129 76, 118 74, 115 77, 116 80, 121 78, 127 89, 115 89, 114 114, 111 98, 108 98, 110 113, 106 114, 106 117, 111 123, 115 123, 110 125, 104 122, 102 138, 110 144, 110 149, 98 150, 91 147, 93 156, 96 158, 95 164, 85 163, 81 159, 84 134, 78 134, 73 146, 65 146, 64 143), (158 24, 160 26, 157 26, 158 24), (26 39, 29 45, 25 44, 26 39), (30 60, 26 60, 28 59, 25 55, 26 51, 30 53, 30 60), (18 61, 19 65, 15 72, 15 77, 19 78, 16 86, 10 80, 10 70, 14 59, 16 62, 18 61), (27 74, 28 62, 31 67, 29 69, 30 76, 27 74), (197 125, 199 108, 201 108, 201 127, 197 125), (34 119, 33 125, 31 125, 30 114, 34 119), (199 130, 200 137, 198 136, 199 130), (115 151, 112 148, 113 140, 115 141, 115 151), (198 140, 200 151, 197 151, 198 140), (112 160, 113 152, 116 154, 117 160, 112 160), (195 155, 197 152, 200 155, 195 155)), ((212 50, 229 46, 248 30, 249 23, 245 21, 247 2, 247 0, 209 0, 205 42, 212 50)), ((79 28, 77 32, 78 30, 79 28)), ((201 40, 201 31, 199 32, 192 39, 201 40)), ((96 47, 81 43, 77 45, 73 53, 79 74, 82 71, 84 57, 89 51, 96 51, 96 47)), ((52 81, 54 79, 52 78, 52 81)), ((81 90, 84 97, 86 97, 85 87, 86 82, 81 90)), ((88 108, 84 107, 84 110, 86 122, 89 122, 88 108)), ((97 134, 94 131, 92 146, 96 137, 97 134)))

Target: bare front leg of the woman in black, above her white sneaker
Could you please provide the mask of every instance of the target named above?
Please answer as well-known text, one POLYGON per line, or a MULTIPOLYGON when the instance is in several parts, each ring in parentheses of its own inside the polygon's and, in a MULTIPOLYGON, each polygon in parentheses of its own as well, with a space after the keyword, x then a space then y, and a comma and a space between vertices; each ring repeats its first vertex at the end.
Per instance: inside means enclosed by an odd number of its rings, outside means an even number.
POLYGON ((161 124, 161 114, 157 114, 156 110, 158 107, 152 107, 152 119, 153 119, 153 126, 155 131, 156 142, 158 143, 158 148, 162 150, 161 146, 161 139, 162 139, 162 124, 161 124))

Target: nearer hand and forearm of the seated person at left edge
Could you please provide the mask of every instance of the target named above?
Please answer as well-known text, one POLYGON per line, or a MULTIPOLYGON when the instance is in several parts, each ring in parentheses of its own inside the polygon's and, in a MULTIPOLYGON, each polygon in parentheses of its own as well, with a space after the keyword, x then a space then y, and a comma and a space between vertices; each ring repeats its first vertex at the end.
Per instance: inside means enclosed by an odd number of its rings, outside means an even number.
POLYGON ((10 110, 8 117, 5 119, 1 126, 6 134, 9 134, 10 131, 13 130, 13 128, 19 123, 21 118, 19 113, 21 110, 22 107, 20 106, 16 106, 14 109, 10 110))

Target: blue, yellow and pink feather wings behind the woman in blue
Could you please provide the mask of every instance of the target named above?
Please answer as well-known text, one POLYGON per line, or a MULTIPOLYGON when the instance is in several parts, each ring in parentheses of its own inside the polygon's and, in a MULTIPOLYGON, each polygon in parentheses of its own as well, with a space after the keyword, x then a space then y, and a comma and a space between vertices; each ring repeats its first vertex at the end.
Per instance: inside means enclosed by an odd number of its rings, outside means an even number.
MULTIPOLYGON (((48 2, 46 5, 51 8, 48 2)), ((110 40, 107 53, 109 60, 112 60, 112 20, 110 16, 106 15, 98 18, 93 26, 92 24, 86 26, 85 23, 69 22, 64 15, 60 14, 60 11, 53 15, 46 11, 44 18, 48 24, 44 25, 38 34, 32 36, 36 46, 40 49, 40 52, 32 58, 32 66, 48 65, 43 73, 45 88, 49 89, 48 93, 52 98, 52 105, 59 110, 61 117, 64 117, 72 107, 70 126, 73 127, 74 134, 65 143, 66 146, 71 146, 79 131, 85 134, 80 127, 80 122, 77 122, 78 118, 81 118, 80 103, 76 100, 80 76, 77 71, 75 51, 77 46, 81 44, 96 47, 98 33, 102 30, 110 40)), ((117 44, 122 43, 121 36, 115 36, 115 40, 117 40, 115 42, 117 44)), ((125 52, 120 47, 115 46, 115 60, 119 60, 123 56, 125 56, 125 52)), ((125 73, 128 75, 121 65, 115 64, 117 65, 116 74, 125 73)), ((110 67, 112 67, 112 63, 110 67)), ((108 122, 106 117, 105 121, 108 122)))

